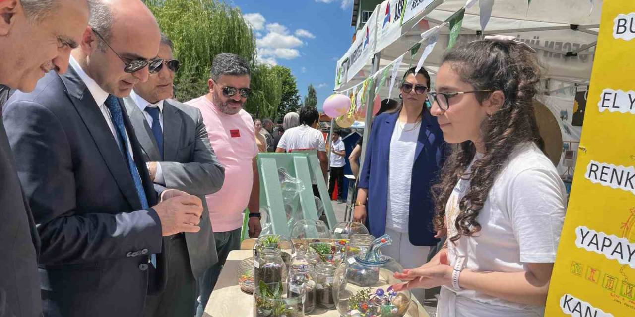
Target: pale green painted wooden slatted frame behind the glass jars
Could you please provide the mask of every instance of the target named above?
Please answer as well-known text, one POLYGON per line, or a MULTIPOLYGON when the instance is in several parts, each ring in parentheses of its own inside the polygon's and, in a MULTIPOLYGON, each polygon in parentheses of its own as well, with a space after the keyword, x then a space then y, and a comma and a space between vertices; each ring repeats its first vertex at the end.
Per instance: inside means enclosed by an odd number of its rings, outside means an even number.
MULTIPOLYGON (((298 178, 304 184, 304 190, 299 192, 300 207, 303 219, 318 219, 318 208, 313 195, 312 179, 316 180, 319 198, 324 205, 324 214, 329 228, 337 224, 328 188, 322 175, 318 155, 315 150, 293 153, 258 153, 258 173, 260 174, 260 207, 269 210, 272 233, 276 235, 291 235, 290 225, 287 223, 284 209, 283 192, 278 176, 278 169, 286 170, 293 178, 298 178)), ((245 223, 246 224, 246 223, 245 223)), ((246 235, 243 226, 243 238, 246 235)))

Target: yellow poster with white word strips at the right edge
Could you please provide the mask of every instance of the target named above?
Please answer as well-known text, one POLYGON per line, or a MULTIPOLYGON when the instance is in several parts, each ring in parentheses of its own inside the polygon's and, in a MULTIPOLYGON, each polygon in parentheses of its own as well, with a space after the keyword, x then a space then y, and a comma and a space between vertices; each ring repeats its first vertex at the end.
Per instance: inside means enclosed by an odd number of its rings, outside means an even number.
POLYGON ((602 7, 545 316, 635 316, 635 1, 602 7))

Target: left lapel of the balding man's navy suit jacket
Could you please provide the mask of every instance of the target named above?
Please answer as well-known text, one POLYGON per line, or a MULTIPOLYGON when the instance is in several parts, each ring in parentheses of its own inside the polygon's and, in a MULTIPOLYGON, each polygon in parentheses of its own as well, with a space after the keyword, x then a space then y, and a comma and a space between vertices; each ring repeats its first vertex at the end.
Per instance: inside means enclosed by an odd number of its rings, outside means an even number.
MULTIPOLYGON (((141 202, 137 196, 130 171, 128 171, 128 165, 124 161, 123 155, 119 151, 119 146, 117 146, 114 136, 112 136, 110 127, 105 122, 104 115, 102 115, 88 87, 81 81, 79 75, 72 67, 69 67, 68 72, 61 75, 60 78, 66 86, 70 101, 72 101, 77 113, 84 121, 88 132, 95 141, 95 145, 97 145, 99 152, 102 154, 110 174, 112 174, 117 186, 119 186, 119 190, 121 190, 121 193, 126 197, 133 209, 139 209, 141 202)), ((131 133, 129 132, 128 134, 131 133)))

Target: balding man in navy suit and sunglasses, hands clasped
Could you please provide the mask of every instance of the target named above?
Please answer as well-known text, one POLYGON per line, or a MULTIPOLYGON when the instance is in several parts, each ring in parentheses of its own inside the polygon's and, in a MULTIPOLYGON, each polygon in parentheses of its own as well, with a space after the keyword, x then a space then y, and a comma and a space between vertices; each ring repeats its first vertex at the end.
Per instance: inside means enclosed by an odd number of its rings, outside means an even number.
POLYGON ((161 63, 159 38, 140 1, 94 1, 67 74, 47 74, 4 107, 41 237, 44 316, 141 316, 163 285, 162 236, 200 230, 196 196, 165 190, 157 204, 119 99, 161 63))

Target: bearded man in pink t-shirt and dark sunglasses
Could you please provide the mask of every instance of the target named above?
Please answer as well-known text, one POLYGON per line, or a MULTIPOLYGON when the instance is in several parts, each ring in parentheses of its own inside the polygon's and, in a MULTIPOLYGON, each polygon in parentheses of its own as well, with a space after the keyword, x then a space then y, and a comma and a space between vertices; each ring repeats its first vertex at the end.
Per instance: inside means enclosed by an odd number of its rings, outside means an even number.
POLYGON ((243 210, 249 214, 249 236, 260 235, 260 180, 256 165, 253 121, 243 110, 251 93, 249 65, 239 56, 221 53, 212 61, 210 93, 188 101, 203 115, 211 145, 225 166, 223 187, 206 196, 214 229, 218 263, 199 280, 197 316, 202 316, 227 254, 240 248, 243 210))

